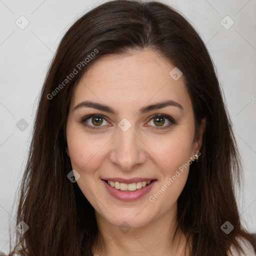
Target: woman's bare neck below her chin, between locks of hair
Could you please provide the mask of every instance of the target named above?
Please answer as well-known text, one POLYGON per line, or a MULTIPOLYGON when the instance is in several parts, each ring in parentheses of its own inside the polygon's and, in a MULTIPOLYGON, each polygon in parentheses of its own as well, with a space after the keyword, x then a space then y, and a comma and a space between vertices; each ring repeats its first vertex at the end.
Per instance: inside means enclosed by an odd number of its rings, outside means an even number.
POLYGON ((92 245, 93 255, 182 255, 185 236, 181 230, 174 233, 176 214, 173 212, 167 212, 145 226, 130 229, 120 229, 96 211, 95 214, 99 232, 92 245))

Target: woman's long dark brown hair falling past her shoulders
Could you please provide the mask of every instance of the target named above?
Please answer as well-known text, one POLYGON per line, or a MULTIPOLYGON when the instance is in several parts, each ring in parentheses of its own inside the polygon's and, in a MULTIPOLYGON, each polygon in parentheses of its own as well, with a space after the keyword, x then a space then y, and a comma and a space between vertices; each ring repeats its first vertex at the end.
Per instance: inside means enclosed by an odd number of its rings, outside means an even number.
POLYGON ((196 126, 206 127, 201 155, 190 170, 177 202, 178 226, 191 242, 191 256, 227 255, 248 240, 234 195, 240 159, 222 92, 209 53, 195 29, 178 11, 156 2, 114 0, 82 15, 65 33, 48 69, 22 182, 13 252, 36 256, 92 255, 97 234, 94 209, 76 182, 65 151, 65 127, 73 89, 101 56, 148 48, 183 72, 196 126), (74 76, 67 79, 67 75, 74 76), (67 79, 67 80, 66 80, 67 79), (62 84, 62 86, 61 86, 62 84), (220 228, 229 221, 233 230, 220 228))

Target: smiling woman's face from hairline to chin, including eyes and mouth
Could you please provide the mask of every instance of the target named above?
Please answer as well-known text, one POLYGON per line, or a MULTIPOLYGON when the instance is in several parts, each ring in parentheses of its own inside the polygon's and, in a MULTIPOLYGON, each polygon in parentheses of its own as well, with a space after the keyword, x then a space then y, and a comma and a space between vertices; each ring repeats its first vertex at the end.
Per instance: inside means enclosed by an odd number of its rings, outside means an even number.
POLYGON ((201 136, 173 68, 151 50, 104 56, 75 87, 67 150, 78 186, 108 223, 141 227, 176 213, 201 136))

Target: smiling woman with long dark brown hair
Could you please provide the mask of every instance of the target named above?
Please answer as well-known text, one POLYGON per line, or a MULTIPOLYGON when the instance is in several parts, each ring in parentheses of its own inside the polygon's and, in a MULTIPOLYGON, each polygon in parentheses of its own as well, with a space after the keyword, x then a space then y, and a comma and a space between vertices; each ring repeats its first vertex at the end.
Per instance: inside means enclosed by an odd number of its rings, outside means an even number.
POLYGON ((48 70, 12 253, 253 255, 239 170, 194 28, 159 2, 101 4, 68 29, 48 70))

